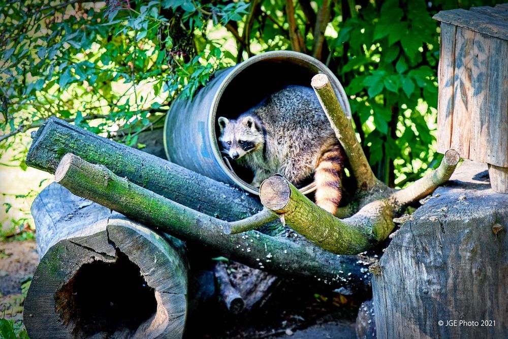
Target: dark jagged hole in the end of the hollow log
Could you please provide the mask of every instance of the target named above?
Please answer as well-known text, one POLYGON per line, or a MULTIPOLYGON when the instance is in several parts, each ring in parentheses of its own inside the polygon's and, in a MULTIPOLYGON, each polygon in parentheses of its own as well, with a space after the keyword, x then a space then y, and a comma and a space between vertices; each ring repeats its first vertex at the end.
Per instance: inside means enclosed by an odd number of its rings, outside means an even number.
POLYGON ((58 317, 75 337, 130 337, 157 311, 154 289, 118 250, 114 262, 96 260, 81 266, 54 297, 58 317))

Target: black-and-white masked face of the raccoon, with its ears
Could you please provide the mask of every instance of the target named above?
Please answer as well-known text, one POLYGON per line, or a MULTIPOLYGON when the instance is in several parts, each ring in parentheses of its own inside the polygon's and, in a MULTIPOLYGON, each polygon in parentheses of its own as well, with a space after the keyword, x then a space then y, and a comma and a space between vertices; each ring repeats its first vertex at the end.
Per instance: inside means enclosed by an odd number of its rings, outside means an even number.
POLYGON ((260 127, 251 116, 229 120, 218 118, 220 142, 231 159, 240 159, 247 153, 263 148, 265 138, 260 127))

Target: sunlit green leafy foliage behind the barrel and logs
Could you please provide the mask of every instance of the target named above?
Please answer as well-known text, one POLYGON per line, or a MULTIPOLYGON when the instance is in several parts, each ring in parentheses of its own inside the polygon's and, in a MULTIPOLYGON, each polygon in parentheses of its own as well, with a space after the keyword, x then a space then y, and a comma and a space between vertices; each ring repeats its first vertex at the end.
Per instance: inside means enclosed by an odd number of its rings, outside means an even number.
POLYGON ((0 136, 0 155, 14 148, 22 168, 28 143, 19 134, 51 115, 104 136, 135 126, 120 141, 137 145, 139 132, 177 95, 193 96, 214 71, 254 53, 295 49, 320 57, 339 76, 370 163, 391 186, 438 161, 439 30, 432 15, 483 5, 299 0, 297 26, 290 27, 282 0, 0 4, 0 129, 12 134, 0 136), (314 31, 325 32, 323 44, 314 31))

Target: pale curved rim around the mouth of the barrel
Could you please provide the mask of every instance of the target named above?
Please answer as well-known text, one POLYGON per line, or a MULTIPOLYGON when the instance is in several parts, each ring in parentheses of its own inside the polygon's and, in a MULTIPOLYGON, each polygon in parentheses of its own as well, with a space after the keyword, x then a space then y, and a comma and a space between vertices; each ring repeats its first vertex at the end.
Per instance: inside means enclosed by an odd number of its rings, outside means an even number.
MULTIPOLYGON (((228 165, 224 162, 222 156, 220 155, 220 148, 217 143, 217 135, 215 134, 215 120, 216 120, 215 114, 217 112, 217 107, 218 107, 221 96, 224 94, 226 87, 235 78, 235 76, 240 74, 247 67, 249 67, 255 63, 258 63, 259 61, 267 60, 267 59, 271 59, 271 58, 275 58, 275 57, 288 57, 288 58, 299 59, 299 60, 305 61, 306 63, 309 63, 309 64, 315 66, 316 68, 320 69, 324 74, 326 74, 328 76, 328 78, 330 79, 330 83, 332 84, 332 87, 334 87, 334 89, 336 89, 336 94, 338 95, 340 104, 341 104, 341 106, 343 106, 342 108, 344 109, 346 116, 351 118, 351 107, 350 107, 349 101, 347 100, 347 96, 345 94, 344 88, 342 87, 342 85, 339 82, 339 80, 337 79, 337 77, 332 73, 332 71, 330 71, 328 69, 328 67, 326 67, 325 64, 323 64, 320 60, 317 60, 307 54, 294 52, 294 51, 271 51, 271 52, 266 52, 266 53, 252 56, 249 59, 243 61, 243 63, 238 64, 222 81, 222 83, 219 86, 219 89, 215 93, 215 96, 212 101, 212 105, 210 107, 210 119, 208 121, 208 129, 209 129, 209 133, 213 139, 213 140, 211 140, 213 155, 215 156, 219 166, 224 170, 224 172, 229 176, 229 178, 231 180, 236 182, 236 184, 238 186, 240 186, 245 191, 250 192, 255 195, 259 195, 259 189, 251 186, 248 182, 245 182, 238 175, 236 175, 236 173, 234 173, 228 167, 228 165), (338 93, 337 93, 337 91, 338 91, 338 93)), ((309 85, 310 85, 310 83, 309 83, 309 85)), ((308 193, 313 192, 315 190, 315 188, 316 188, 315 182, 312 181, 307 186, 302 187, 300 189, 300 192, 302 192, 303 194, 308 194, 308 193)))

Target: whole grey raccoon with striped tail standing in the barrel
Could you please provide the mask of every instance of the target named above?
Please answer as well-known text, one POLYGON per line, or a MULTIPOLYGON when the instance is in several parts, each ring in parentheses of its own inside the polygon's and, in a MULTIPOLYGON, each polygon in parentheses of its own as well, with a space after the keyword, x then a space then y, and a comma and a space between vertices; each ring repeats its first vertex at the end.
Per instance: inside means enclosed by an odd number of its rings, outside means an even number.
POLYGON ((218 118, 219 141, 260 187, 275 173, 299 186, 314 173, 316 204, 334 214, 342 197, 343 150, 314 91, 287 86, 237 119, 218 118))

